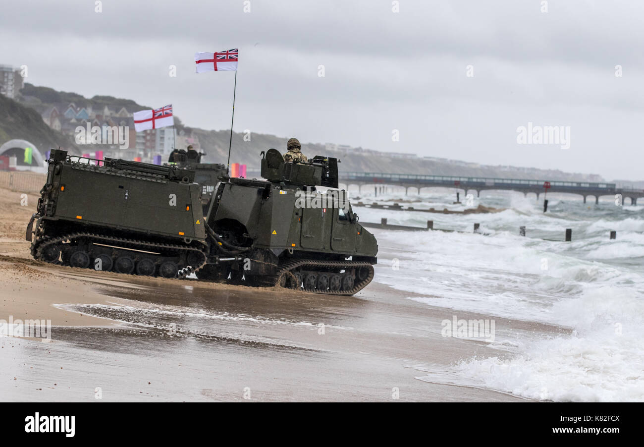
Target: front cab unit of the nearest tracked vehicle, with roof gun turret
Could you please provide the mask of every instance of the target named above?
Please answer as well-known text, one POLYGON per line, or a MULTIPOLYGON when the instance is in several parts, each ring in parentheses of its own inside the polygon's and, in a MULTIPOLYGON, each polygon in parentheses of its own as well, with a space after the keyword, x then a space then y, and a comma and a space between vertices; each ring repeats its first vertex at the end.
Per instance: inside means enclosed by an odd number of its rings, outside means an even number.
POLYGON ((220 182, 206 230, 216 240, 200 279, 304 287, 352 295, 374 278, 378 246, 358 224, 345 191, 337 188, 337 160, 284 162, 276 149, 262 153, 266 180, 220 182), (222 263, 229 254, 232 262, 222 263))

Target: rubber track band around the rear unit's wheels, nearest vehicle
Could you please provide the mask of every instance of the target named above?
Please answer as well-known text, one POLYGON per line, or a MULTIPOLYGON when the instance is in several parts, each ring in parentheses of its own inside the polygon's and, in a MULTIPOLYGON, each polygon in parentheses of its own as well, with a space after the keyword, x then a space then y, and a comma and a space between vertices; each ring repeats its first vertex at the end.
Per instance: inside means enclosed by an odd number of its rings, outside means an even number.
MULTIPOLYGON (((39 240, 34 240, 34 242, 32 243, 32 256, 34 259, 44 261, 42 258, 44 247, 47 247, 48 245, 52 245, 52 243, 57 244, 65 240, 76 240, 79 238, 89 238, 92 241, 98 240, 98 241, 113 243, 113 245, 117 245, 117 246, 125 244, 126 247, 128 247, 128 245, 130 245, 128 248, 133 248, 131 247, 131 245, 134 245, 134 246, 138 245, 139 247, 150 247, 152 249, 161 249, 161 250, 196 251, 202 254, 203 260, 198 267, 193 267, 192 265, 189 267, 184 267, 184 269, 178 272, 175 278, 185 278, 185 276, 188 276, 189 274, 196 272, 202 267, 204 267, 204 264, 206 262, 205 252, 195 247, 188 247, 187 245, 173 245, 169 243, 144 242, 144 241, 133 240, 133 239, 115 238, 113 236, 101 236, 100 234, 94 234, 94 233, 70 233, 70 234, 61 236, 59 238, 52 238, 51 236, 41 237, 39 240)), ((121 247, 121 248, 126 248, 126 247, 121 247)), ((204 246, 204 249, 205 249, 205 246, 204 246)), ((56 261, 52 263, 57 265, 67 265, 61 261, 56 261)))

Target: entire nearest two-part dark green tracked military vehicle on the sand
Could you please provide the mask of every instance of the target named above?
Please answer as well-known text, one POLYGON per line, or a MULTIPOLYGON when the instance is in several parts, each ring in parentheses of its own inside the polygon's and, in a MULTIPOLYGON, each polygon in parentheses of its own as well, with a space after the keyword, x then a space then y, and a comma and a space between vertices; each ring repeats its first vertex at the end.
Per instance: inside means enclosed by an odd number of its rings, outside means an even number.
MULTIPOLYGON (((374 278, 377 243, 337 188, 337 160, 262 153, 266 180, 223 177, 207 218, 194 171, 52 150, 32 256, 72 267, 352 295, 374 278)), ((35 225, 34 225, 35 222, 35 225)))

